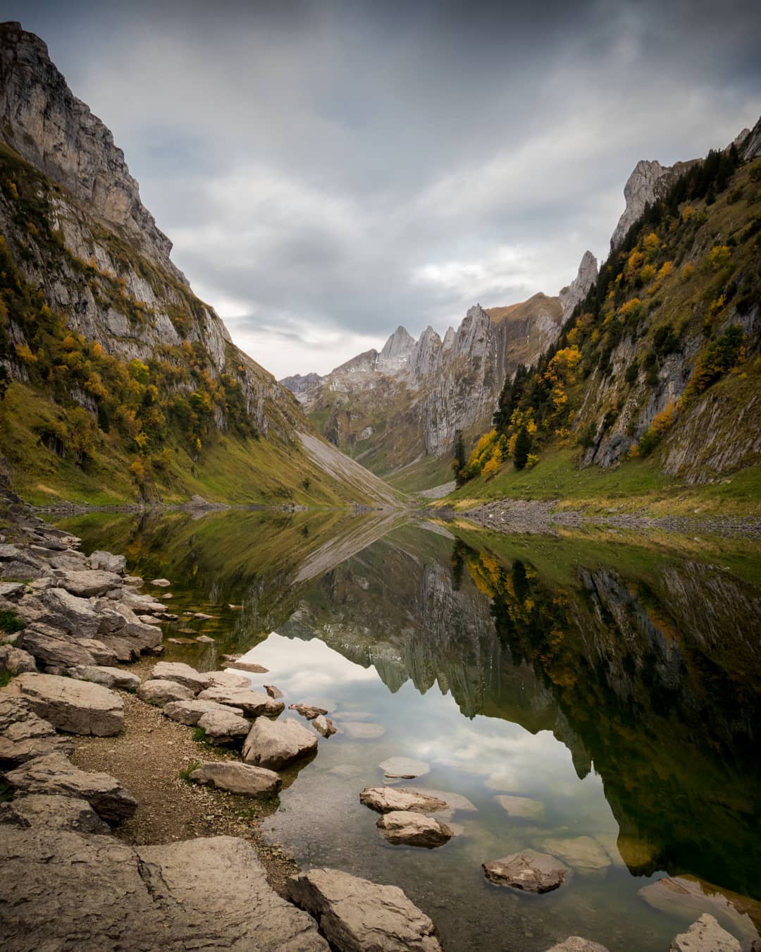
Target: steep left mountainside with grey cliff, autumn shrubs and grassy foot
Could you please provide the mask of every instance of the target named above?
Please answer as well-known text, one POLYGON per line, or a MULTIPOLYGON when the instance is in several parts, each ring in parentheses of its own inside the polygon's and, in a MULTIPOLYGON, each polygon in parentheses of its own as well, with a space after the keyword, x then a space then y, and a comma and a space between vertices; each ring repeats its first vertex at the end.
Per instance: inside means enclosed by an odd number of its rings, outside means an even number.
POLYGON ((373 498, 304 452, 298 402, 192 293, 111 133, 14 23, 0 25, 0 232, 0 449, 22 491, 373 498))

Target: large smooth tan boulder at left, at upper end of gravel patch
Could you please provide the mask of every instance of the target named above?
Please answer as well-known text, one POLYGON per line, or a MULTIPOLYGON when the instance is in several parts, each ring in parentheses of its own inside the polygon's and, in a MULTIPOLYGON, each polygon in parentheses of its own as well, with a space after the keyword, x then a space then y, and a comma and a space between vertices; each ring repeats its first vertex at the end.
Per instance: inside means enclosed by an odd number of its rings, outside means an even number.
POLYGON ((110 737, 125 724, 122 699, 101 684, 52 674, 20 674, 10 690, 26 698, 35 714, 69 734, 110 737))

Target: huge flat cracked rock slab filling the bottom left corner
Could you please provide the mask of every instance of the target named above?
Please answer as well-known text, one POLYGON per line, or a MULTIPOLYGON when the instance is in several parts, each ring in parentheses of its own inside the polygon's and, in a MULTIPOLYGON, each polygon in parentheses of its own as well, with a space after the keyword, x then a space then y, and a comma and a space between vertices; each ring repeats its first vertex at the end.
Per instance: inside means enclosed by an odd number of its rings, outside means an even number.
POLYGON ((316 923, 278 896, 243 840, 132 847, 45 826, 4 832, 0 905, 9 952, 328 952, 316 923))

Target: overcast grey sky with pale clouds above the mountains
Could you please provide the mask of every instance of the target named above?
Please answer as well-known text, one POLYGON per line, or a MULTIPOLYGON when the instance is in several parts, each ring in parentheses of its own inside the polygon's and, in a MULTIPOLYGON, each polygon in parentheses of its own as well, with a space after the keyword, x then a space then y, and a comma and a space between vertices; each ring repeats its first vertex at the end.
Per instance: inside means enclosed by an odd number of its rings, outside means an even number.
POLYGON ((278 377, 556 294, 640 158, 761 113, 761 3, 0 0, 278 377))

